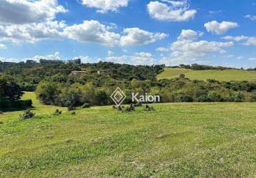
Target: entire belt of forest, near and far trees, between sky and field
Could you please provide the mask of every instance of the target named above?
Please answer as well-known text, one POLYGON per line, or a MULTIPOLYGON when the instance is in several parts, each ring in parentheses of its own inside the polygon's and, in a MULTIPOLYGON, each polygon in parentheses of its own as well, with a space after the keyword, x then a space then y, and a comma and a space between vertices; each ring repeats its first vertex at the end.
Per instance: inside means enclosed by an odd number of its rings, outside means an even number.
MULTIPOLYGON (((210 69, 200 65, 191 67, 210 69)), ((127 94, 125 103, 132 102, 131 93, 160 95, 162 103, 256 101, 256 83, 189 80, 185 75, 172 80, 157 80, 163 70, 161 65, 131 66, 107 62, 0 63, 0 101, 4 105, 7 101, 19 100, 23 91, 35 91, 46 105, 110 105, 113 103, 109 96, 117 86, 127 94)))

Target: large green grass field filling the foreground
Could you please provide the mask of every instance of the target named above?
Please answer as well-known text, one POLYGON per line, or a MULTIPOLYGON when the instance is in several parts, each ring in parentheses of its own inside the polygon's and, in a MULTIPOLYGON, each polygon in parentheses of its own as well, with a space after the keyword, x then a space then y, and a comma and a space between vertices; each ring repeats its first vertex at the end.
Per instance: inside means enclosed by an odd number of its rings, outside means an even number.
POLYGON ((0 115, 0 177, 256 177, 256 103, 0 115))

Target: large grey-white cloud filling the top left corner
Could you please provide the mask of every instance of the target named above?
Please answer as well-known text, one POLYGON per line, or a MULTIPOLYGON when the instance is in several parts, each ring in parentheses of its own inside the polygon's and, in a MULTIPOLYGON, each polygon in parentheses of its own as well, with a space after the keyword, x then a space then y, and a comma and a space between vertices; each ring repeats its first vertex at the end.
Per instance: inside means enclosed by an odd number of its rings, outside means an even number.
POLYGON ((51 21, 56 14, 67 12, 57 0, 1 0, 1 23, 38 23, 51 21))

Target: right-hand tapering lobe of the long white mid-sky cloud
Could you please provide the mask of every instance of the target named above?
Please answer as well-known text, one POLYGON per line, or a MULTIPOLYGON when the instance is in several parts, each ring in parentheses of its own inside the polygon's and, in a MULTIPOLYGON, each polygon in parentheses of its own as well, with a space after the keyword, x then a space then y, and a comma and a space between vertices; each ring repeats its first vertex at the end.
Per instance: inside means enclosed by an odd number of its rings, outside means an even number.
POLYGON ((125 28, 121 37, 121 46, 140 46, 166 38, 165 33, 151 33, 139 28, 125 28))

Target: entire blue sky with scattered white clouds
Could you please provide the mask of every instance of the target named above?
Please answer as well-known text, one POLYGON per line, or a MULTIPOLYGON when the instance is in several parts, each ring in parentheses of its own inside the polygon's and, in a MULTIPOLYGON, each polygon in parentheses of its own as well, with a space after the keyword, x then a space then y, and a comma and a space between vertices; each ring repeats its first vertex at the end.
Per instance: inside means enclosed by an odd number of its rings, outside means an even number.
POLYGON ((256 0, 1 0, 0 61, 256 66, 256 0))

